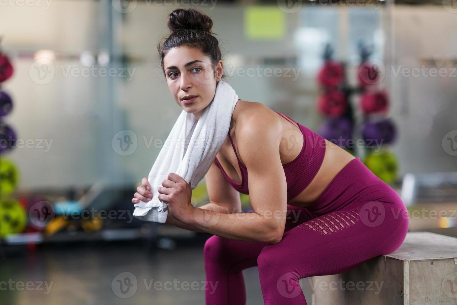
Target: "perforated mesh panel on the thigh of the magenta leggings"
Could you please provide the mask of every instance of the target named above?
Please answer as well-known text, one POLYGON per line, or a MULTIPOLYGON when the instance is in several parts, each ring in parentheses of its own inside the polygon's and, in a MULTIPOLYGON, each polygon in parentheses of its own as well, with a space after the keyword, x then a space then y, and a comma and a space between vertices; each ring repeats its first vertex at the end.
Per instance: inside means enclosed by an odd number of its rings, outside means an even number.
POLYGON ((298 227, 312 229, 322 235, 327 235, 355 225, 359 220, 359 213, 356 211, 342 211, 319 216, 298 225, 298 227))

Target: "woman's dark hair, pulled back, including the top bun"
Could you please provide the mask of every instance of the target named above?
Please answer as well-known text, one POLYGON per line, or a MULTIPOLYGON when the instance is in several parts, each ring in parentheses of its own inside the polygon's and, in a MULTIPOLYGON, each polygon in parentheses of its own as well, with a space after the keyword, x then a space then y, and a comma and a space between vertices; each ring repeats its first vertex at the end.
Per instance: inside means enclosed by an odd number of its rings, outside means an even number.
MULTIPOLYGON (((222 59, 218 39, 211 32, 213 20, 206 14, 193 7, 189 9, 176 9, 168 16, 167 26, 171 31, 170 36, 165 39, 163 44, 159 43, 157 47, 160 56, 160 66, 164 75, 164 57, 171 48, 181 46, 197 48, 211 59, 213 68, 222 59)), ((216 71, 214 71, 214 76, 216 76, 216 71)), ((222 78, 224 76, 222 75, 222 78)))

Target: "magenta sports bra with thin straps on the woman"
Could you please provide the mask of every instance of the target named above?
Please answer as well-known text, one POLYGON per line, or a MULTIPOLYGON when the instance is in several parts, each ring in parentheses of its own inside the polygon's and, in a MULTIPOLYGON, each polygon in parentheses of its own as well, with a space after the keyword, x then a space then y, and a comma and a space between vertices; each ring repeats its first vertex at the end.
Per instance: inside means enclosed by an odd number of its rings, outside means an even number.
MULTIPOLYGON (((286 119, 287 116, 285 114, 277 111, 275 112, 286 119)), ((292 118, 290 119, 292 120, 292 118)), ((294 120, 292 121, 297 123, 294 120)), ((298 194, 301 193, 313 180, 314 176, 316 176, 317 172, 319 171, 325 155, 325 139, 319 134, 315 134, 311 129, 306 128, 302 124, 297 124, 303 134, 302 150, 298 154, 297 158, 282 165, 284 168, 284 173, 286 174, 287 181, 287 201, 297 197, 298 194)), ((232 187, 234 187, 235 190, 243 194, 249 194, 248 170, 239 160, 238 154, 235 150, 235 145, 233 144, 233 140, 232 137, 230 137, 230 134, 228 134, 228 138, 230 139, 230 143, 232 143, 233 150, 238 160, 239 168, 241 171, 241 183, 237 183, 228 177, 221 164, 219 163, 218 158, 214 158, 214 161, 216 161, 216 164, 219 166, 224 176, 227 178, 228 182, 232 185, 232 187)))

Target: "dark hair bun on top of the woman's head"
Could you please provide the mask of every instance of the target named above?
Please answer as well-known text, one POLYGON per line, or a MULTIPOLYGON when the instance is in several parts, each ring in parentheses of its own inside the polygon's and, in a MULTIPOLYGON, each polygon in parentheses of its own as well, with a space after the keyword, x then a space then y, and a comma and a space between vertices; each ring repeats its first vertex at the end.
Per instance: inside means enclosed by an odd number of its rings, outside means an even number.
POLYGON ((176 9, 168 17, 168 28, 171 32, 179 30, 201 30, 211 33, 213 20, 194 8, 176 9))

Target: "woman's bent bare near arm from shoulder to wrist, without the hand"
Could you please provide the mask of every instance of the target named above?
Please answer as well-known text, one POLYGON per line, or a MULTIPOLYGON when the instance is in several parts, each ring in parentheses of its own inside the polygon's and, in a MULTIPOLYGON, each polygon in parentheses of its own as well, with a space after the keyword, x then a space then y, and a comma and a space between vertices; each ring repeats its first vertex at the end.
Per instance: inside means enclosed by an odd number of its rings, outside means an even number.
MULTIPOLYGON (((268 115, 268 114, 266 114, 268 115)), ((277 243, 284 233, 287 183, 279 155, 280 130, 262 115, 237 126, 238 154, 248 169, 250 202, 254 212, 226 214, 194 209, 183 221, 207 233, 240 241, 277 243)))

